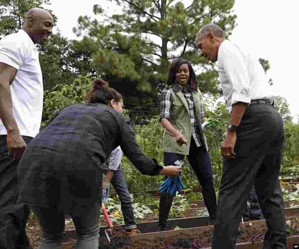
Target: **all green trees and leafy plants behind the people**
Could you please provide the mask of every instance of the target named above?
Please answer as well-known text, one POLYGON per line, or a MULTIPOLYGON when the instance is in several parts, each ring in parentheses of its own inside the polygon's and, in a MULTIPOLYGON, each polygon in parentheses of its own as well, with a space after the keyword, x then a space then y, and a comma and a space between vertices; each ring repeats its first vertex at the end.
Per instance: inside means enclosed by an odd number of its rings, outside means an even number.
MULTIPOLYGON (((194 0, 189 6, 173 0, 111 1, 122 7, 122 13, 108 16, 96 4, 93 12, 103 21, 78 17, 73 30, 80 39, 68 40, 58 30, 39 47, 45 89, 42 125, 63 107, 83 102, 92 87, 92 77, 102 77, 123 95, 141 149, 163 165, 163 128, 156 116, 158 96, 166 86, 168 65, 183 57, 199 69, 197 81, 206 97, 206 116, 217 116, 220 121, 219 126, 206 129, 214 183, 219 187, 222 172, 219 150, 229 115, 225 104, 218 101, 219 79, 214 65, 199 56, 194 41, 196 32, 209 22, 222 27, 228 38, 236 26, 234 1, 194 0), (147 121, 140 122, 140 116, 147 121)), ((42 6, 50 8, 51 1, 0 0, 0 39, 22 28, 23 17, 30 8, 42 6)), ((55 13, 52 15, 56 22, 55 13)), ((270 62, 263 58, 259 61, 267 72, 270 62)), ((275 82, 269 79, 269 84, 275 82)), ((299 174, 299 126, 290 116, 286 99, 278 96, 275 104, 286 133, 281 173, 299 174)), ((142 176, 125 157, 122 167, 135 196, 145 190, 157 190, 163 180, 162 176, 142 176)), ((187 159, 182 180, 186 187, 198 186, 187 159)))

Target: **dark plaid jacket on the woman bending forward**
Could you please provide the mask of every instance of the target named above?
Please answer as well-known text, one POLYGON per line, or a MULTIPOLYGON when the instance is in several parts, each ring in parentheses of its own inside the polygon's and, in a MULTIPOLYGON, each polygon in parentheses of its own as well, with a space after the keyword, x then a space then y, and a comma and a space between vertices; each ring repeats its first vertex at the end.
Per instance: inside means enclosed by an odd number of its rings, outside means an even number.
POLYGON ((66 107, 22 156, 19 202, 68 210, 90 207, 101 196, 99 165, 119 145, 142 174, 157 175, 162 168, 143 154, 126 118, 106 104, 66 107))

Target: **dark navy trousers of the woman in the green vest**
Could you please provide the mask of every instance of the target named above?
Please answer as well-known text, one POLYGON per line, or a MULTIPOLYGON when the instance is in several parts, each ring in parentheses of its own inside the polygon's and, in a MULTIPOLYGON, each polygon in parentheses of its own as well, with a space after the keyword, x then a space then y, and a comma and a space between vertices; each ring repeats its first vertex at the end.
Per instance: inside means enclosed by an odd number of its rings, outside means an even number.
MULTIPOLYGON (((185 155, 164 152, 164 165, 174 165, 176 160, 183 160, 184 156, 185 155)), ((215 220, 217 201, 215 188, 213 186, 213 170, 210 154, 205 150, 204 146, 196 146, 193 136, 191 137, 190 150, 187 159, 202 187, 202 196, 208 209, 210 219, 215 220)), ((167 191, 163 191, 159 203, 159 226, 166 226, 172 202, 173 196, 167 194, 167 191)))

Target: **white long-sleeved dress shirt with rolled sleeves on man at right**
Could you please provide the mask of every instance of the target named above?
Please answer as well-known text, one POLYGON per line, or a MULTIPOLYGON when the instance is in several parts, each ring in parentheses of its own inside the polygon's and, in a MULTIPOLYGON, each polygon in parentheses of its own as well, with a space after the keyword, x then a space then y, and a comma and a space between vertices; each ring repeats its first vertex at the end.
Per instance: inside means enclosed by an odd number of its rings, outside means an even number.
POLYGON ((269 85, 259 59, 228 40, 219 47, 218 74, 229 113, 237 102, 249 104, 254 99, 273 102, 274 89, 269 85))

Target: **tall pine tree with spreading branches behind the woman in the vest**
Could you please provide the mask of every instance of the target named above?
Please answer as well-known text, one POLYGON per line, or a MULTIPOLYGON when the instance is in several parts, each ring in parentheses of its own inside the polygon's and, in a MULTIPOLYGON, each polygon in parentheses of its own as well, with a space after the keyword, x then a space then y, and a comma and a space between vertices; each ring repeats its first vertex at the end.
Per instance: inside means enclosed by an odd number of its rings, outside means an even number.
POLYGON ((98 50, 94 63, 101 73, 150 84, 161 89, 173 59, 183 57, 200 66, 199 87, 216 93, 219 84, 214 65, 199 56, 196 33, 206 23, 214 22, 228 37, 235 27, 233 0, 194 0, 189 6, 181 1, 110 0, 122 6, 122 14, 107 16, 98 4, 94 14, 105 21, 80 16, 74 32, 89 37, 98 50))

